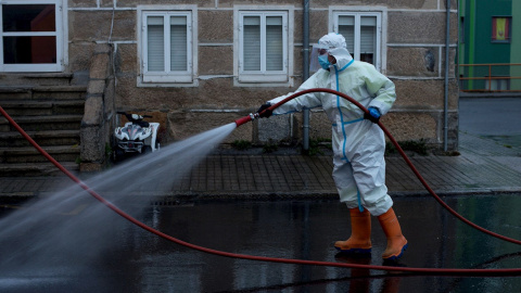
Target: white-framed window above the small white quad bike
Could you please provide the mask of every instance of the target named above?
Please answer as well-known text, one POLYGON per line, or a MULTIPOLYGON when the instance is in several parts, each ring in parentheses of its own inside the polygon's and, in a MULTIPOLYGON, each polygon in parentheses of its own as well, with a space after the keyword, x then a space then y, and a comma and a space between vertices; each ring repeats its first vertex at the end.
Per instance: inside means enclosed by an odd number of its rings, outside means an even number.
POLYGON ((193 82, 191 11, 141 11, 143 84, 193 82))

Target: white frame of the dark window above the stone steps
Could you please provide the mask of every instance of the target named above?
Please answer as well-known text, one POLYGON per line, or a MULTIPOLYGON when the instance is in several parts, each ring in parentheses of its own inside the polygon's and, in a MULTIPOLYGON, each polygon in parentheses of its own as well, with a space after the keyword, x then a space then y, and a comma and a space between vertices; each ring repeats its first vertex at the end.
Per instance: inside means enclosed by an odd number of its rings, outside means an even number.
POLYGON ((0 72, 63 72, 67 60, 67 1, 66 0, 1 0, 0 1, 0 72), (54 4, 55 7, 55 31, 26 31, 4 33, 2 10, 3 4, 54 4), (3 37, 10 36, 51 36, 56 38, 56 63, 30 63, 30 64, 4 64, 3 62, 3 37))

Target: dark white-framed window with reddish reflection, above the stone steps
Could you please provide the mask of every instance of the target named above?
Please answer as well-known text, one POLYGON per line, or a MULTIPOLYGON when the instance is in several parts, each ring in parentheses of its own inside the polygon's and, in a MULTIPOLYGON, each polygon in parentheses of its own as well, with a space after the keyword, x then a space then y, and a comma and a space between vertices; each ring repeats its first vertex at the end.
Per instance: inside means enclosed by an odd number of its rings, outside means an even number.
POLYGON ((0 3, 0 71, 63 71, 63 14, 61 0, 0 3))

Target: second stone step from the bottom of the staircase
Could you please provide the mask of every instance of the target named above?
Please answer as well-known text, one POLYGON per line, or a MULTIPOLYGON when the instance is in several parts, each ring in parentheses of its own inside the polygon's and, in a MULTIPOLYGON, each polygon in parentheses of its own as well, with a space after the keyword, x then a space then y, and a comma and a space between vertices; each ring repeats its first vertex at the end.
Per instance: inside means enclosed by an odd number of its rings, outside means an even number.
MULTIPOLYGON (((42 146, 58 162, 76 162, 80 155, 79 145, 42 146)), ((0 163, 43 163, 49 162, 36 148, 0 148, 0 163)))

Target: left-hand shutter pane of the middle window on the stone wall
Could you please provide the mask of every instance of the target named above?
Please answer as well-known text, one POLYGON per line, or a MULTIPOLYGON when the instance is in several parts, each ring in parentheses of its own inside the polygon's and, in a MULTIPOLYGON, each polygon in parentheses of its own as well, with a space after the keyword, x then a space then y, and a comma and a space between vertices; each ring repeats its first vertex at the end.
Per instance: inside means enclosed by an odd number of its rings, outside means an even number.
POLYGON ((260 17, 244 17, 244 71, 260 71, 260 17))

